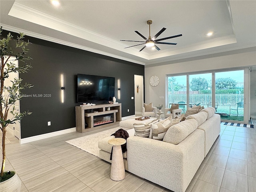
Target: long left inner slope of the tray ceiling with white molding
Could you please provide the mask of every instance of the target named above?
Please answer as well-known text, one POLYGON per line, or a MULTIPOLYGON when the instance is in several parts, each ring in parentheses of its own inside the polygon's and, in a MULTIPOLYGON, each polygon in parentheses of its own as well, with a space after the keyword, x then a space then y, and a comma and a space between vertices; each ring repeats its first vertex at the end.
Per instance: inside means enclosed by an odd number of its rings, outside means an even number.
POLYGON ((119 41, 44 14, 18 2, 14 2, 8 15, 148 60, 148 54, 145 52, 138 52, 135 48, 124 50, 126 45, 119 41))

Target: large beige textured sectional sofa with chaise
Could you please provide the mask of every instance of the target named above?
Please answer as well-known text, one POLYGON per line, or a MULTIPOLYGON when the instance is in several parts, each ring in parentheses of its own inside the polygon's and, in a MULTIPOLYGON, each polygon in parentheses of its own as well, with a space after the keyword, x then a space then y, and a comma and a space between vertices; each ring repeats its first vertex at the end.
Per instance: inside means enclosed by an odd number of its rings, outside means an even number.
MULTIPOLYGON (((220 134, 220 116, 214 108, 205 108, 171 126, 163 141, 133 136, 134 129, 127 132, 125 169, 174 192, 184 192, 220 134)), ((112 146, 107 142, 113 137, 98 144, 100 158, 108 162, 112 146)))

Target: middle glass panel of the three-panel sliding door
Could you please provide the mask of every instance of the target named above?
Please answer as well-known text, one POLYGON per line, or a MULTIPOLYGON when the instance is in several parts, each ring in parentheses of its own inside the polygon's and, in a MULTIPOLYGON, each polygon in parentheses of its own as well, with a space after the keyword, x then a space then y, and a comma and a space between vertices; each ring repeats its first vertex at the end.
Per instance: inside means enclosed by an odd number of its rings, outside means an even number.
POLYGON ((189 106, 200 105, 206 108, 211 102, 212 73, 189 75, 189 106))

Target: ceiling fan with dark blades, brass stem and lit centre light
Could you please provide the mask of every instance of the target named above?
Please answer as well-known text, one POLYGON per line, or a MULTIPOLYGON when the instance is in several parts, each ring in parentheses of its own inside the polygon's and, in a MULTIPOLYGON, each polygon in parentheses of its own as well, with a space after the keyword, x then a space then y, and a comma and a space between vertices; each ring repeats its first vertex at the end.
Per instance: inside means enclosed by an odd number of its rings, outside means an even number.
MULTIPOLYGON (((120 41, 143 42, 142 44, 138 44, 138 45, 146 44, 144 47, 142 47, 142 49, 140 51, 142 51, 146 46, 147 47, 154 46, 159 51, 160 48, 158 46, 156 46, 156 44, 167 44, 167 45, 176 45, 177 44, 177 43, 168 43, 168 42, 159 42, 159 41, 182 36, 182 34, 179 34, 179 35, 174 35, 174 36, 170 36, 170 37, 166 37, 166 38, 156 39, 162 32, 164 32, 164 30, 166 30, 166 28, 162 28, 153 38, 151 38, 151 36, 150 36, 150 24, 152 24, 152 20, 148 20, 147 24, 149 25, 149 37, 148 37, 148 39, 146 37, 144 37, 142 34, 140 34, 138 31, 135 31, 139 36, 144 38, 144 40, 146 40, 146 41, 131 41, 131 40, 120 40, 120 41)), ((134 47, 134 46, 138 46, 138 45, 133 45, 133 46, 130 46, 130 47, 134 47)), ((129 48, 129 47, 126 47, 126 48, 129 48)))

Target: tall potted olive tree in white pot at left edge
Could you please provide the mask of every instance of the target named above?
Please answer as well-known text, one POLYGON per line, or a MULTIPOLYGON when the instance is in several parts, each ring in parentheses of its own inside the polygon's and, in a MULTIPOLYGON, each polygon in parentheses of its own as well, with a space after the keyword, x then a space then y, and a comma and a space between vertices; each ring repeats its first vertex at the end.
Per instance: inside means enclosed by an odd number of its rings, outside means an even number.
POLYGON ((17 185, 16 172, 4 172, 4 166, 6 161, 5 152, 5 138, 6 138, 6 127, 8 124, 13 124, 16 121, 22 119, 24 116, 31 114, 31 112, 17 112, 15 110, 15 103, 22 98, 21 90, 26 88, 31 88, 31 84, 22 84, 21 78, 14 78, 11 84, 6 85, 6 80, 10 73, 25 73, 31 67, 27 64, 28 60, 31 60, 28 53, 28 44, 22 40, 24 34, 20 33, 16 40, 9 33, 6 38, 2 38, 2 26, 0 27, 0 129, 2 131, 2 168, 0 174, 0 191, 17 191, 13 189, 17 185), (16 66, 13 61, 21 61, 18 66, 16 66), (9 114, 9 115, 8 115, 9 114), (10 115, 11 114, 11 115, 10 115), (14 183, 10 183, 10 180, 15 180, 14 183), (8 189, 11 187, 11 189, 8 189))

